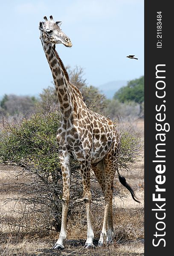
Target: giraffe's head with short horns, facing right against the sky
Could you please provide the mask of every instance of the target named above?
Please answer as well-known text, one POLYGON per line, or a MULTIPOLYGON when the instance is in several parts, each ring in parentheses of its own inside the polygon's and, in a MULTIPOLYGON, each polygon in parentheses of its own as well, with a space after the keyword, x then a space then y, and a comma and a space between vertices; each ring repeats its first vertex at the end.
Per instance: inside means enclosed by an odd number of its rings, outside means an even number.
POLYGON ((54 21, 50 16, 50 21, 47 17, 44 17, 45 22, 39 23, 39 29, 41 30, 41 38, 45 43, 51 44, 64 44, 66 47, 72 47, 70 38, 61 31, 61 21, 54 21))

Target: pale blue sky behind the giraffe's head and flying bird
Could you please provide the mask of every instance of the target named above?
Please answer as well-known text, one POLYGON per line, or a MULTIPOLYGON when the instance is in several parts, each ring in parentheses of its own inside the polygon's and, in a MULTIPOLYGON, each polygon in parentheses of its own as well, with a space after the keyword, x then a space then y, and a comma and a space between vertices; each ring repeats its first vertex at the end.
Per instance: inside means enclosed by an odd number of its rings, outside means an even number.
POLYGON ((38 29, 45 15, 63 22, 73 47, 56 49, 65 66, 84 68, 89 85, 144 75, 143 0, 6 0, 1 1, 0 96, 36 95, 51 85, 38 29))

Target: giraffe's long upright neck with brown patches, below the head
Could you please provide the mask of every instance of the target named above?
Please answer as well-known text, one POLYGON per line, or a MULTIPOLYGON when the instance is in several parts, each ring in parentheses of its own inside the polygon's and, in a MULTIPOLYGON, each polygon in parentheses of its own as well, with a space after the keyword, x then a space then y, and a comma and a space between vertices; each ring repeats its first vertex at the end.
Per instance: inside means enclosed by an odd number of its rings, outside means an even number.
POLYGON ((52 77, 54 80, 62 117, 64 119, 68 119, 73 114, 74 100, 72 95, 72 87, 68 81, 68 76, 64 73, 58 58, 56 58, 55 50, 52 47, 52 44, 45 43, 42 38, 41 42, 49 63, 49 67, 52 71, 52 77))

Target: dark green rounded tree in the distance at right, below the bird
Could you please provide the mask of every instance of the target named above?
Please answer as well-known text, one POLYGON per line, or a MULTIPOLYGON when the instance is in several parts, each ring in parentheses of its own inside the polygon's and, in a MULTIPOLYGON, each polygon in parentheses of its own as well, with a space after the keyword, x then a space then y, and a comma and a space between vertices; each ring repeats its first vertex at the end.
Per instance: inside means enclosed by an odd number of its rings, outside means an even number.
POLYGON ((114 94, 113 99, 118 99, 122 103, 131 101, 136 102, 140 106, 141 113, 142 103, 144 102, 144 76, 141 76, 139 79, 129 81, 127 86, 121 87, 114 94))

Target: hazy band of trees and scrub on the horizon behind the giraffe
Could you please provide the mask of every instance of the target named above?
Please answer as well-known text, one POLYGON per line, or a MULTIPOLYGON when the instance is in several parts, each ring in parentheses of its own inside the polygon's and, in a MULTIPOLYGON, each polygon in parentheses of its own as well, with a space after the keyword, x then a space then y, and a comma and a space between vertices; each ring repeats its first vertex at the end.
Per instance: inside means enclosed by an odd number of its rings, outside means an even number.
MULTIPOLYGON (((104 113, 111 119, 133 121, 144 114, 144 76, 128 82, 113 96, 107 99, 97 87, 88 86, 81 67, 67 67, 70 81, 78 87, 87 105, 95 103, 97 112, 104 113)), ((4 116, 27 117, 28 113, 40 113, 58 106, 54 84, 45 88, 38 97, 4 95, 0 101, 0 113, 4 116)))

